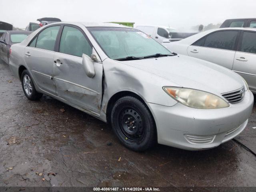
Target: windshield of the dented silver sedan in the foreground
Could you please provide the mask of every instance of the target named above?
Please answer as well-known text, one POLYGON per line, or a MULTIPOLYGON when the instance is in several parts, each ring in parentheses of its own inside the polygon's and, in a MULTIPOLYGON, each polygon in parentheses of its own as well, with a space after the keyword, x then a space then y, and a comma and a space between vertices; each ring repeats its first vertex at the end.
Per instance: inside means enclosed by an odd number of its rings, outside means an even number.
POLYGON ((111 59, 172 54, 164 46, 137 29, 88 27, 88 30, 111 59))

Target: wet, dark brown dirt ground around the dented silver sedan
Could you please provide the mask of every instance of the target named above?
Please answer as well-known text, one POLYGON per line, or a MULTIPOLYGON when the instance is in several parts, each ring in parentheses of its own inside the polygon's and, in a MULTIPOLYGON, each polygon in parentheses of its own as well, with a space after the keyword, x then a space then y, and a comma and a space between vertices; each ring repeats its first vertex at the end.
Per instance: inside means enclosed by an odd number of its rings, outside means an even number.
POLYGON ((49 96, 27 100, 0 61, 0 186, 256 186, 254 126, 256 106, 236 138, 252 151, 231 140, 198 152, 133 152, 84 112, 49 96))

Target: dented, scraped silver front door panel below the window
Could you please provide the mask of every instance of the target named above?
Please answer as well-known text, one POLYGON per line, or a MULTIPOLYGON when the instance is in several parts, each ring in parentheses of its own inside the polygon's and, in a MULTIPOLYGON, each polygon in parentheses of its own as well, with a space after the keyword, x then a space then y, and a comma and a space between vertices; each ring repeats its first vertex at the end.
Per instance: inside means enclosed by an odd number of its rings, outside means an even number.
POLYGON ((53 60, 57 96, 99 114, 102 96, 102 63, 94 62, 95 76, 89 78, 82 66, 82 57, 56 52, 53 60))

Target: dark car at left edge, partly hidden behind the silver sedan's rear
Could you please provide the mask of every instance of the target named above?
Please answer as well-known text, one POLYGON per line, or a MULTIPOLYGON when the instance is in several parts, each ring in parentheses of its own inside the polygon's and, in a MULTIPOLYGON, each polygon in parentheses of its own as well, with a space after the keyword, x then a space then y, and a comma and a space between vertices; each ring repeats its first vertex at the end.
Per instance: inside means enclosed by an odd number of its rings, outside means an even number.
POLYGON ((13 44, 22 42, 31 32, 6 31, 0 38, 0 58, 9 64, 10 48, 13 44))

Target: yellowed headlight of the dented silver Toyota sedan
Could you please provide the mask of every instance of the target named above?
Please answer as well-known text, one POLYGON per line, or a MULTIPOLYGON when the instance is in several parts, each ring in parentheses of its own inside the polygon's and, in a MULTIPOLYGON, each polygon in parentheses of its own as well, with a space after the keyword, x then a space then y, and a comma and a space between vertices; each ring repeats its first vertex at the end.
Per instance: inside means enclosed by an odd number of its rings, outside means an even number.
POLYGON ((222 98, 204 91, 178 87, 163 87, 172 98, 186 106, 197 109, 218 109, 228 107, 222 98))

